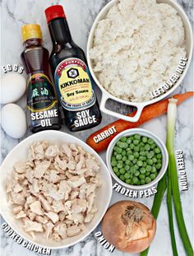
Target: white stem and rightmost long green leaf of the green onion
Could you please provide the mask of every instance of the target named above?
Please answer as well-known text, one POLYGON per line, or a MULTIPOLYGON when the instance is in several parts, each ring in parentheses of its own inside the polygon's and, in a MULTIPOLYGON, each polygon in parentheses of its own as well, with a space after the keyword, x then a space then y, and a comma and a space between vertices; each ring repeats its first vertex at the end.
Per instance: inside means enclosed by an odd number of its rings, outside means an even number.
MULTIPOLYGON (((167 114, 168 132, 167 132, 166 147, 169 152, 169 179, 172 183, 173 203, 174 203, 175 214, 178 222, 178 230, 182 238, 182 243, 184 245, 187 256, 193 256, 192 244, 191 244, 191 241, 189 240, 187 229, 185 226, 185 221, 182 214, 182 205, 181 205, 181 198, 180 198, 180 192, 179 192, 179 186, 178 186, 178 172, 177 172, 176 160, 174 156, 173 138, 174 138, 175 119, 176 119, 176 113, 177 113, 176 103, 177 103, 177 100, 170 99, 168 112, 167 112, 168 113, 167 114)), ((169 189, 171 189, 171 185, 169 186, 169 189)), ((171 213, 172 212, 169 212, 169 215, 171 215, 171 213)), ((170 230, 172 231, 172 229, 170 230)))

